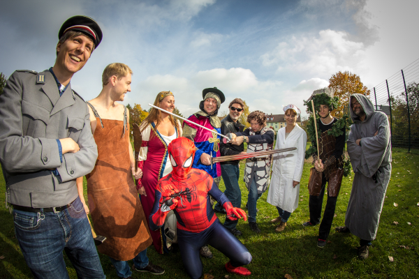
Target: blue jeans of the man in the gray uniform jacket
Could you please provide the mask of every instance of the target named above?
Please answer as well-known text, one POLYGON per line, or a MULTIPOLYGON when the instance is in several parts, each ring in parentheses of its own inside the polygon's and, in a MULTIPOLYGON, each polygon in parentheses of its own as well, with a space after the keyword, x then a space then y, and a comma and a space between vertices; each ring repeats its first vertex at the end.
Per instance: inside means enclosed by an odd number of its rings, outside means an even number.
POLYGON ((79 197, 58 213, 13 209, 13 218, 20 250, 35 278, 69 278, 63 250, 78 278, 105 278, 79 197))

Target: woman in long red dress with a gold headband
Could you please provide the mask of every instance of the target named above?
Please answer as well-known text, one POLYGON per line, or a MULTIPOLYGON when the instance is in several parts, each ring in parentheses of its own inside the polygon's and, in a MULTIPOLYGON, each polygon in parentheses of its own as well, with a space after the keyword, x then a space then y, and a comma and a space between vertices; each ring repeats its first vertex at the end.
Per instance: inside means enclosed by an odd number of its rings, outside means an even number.
MULTIPOLYGON (((175 96, 170 91, 162 91, 154 101, 156 107, 173 112, 175 96)), ((152 212, 154 194, 159 179, 172 171, 172 164, 168 158, 168 145, 177 137, 182 137, 182 128, 177 119, 170 114, 152 108, 149 115, 142 121, 142 146, 138 156, 138 167, 142 169, 142 178, 137 181, 137 188, 141 194, 142 208, 145 216, 152 212)), ((151 231, 154 248, 163 254, 168 252, 164 227, 151 231)))

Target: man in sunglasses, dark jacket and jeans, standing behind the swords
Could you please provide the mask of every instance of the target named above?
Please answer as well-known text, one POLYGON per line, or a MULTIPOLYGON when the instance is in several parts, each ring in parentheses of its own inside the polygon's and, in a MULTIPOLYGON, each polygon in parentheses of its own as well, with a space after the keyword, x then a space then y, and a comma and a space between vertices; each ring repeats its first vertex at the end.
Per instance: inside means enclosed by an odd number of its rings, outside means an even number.
MULTIPOLYGON (((240 98, 235 98, 228 105, 229 114, 223 120, 221 120, 221 134, 227 135, 228 133, 238 133, 243 132, 244 125, 238 121, 244 110, 244 102, 240 98)), ((225 144, 220 143, 221 156, 230 156, 243 154, 244 152, 244 143, 240 145, 225 144)), ((242 192, 239 187, 239 168, 240 160, 230 160, 226 162, 221 162, 221 176, 223 177, 224 185, 226 190, 224 194, 230 199, 230 202, 234 207, 240 208, 242 205, 242 192)), ((214 206, 214 211, 219 213, 226 213, 225 209, 222 208, 221 204, 216 204, 214 206)), ((226 227, 234 235, 240 236, 242 232, 236 229, 238 220, 230 220, 226 218, 224 222, 224 227, 226 227)))

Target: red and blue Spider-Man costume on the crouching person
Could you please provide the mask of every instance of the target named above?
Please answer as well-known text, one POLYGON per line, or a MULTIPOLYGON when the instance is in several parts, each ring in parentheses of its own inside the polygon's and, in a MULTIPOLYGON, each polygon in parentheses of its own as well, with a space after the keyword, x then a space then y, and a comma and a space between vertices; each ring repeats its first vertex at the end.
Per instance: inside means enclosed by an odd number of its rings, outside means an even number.
POLYGON ((168 211, 175 211, 179 250, 191 278, 200 278, 203 274, 199 250, 207 244, 230 259, 226 264, 227 271, 250 275, 250 271, 242 267, 251 262, 249 250, 221 225, 208 194, 223 205, 228 218, 237 220, 243 216, 246 220, 246 213, 232 206, 207 172, 192 168, 195 145, 191 140, 179 137, 169 144, 168 151, 173 170, 157 183, 156 199, 149 216, 150 228, 159 229, 168 211))

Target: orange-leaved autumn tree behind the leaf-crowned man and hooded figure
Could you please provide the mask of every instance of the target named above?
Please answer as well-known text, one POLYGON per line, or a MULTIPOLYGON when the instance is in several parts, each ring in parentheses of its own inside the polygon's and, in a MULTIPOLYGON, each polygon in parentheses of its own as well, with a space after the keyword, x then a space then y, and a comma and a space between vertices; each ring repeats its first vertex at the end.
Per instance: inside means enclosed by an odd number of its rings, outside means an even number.
POLYGON ((360 93, 365 96, 369 96, 369 89, 367 86, 362 84, 360 77, 348 71, 342 73, 337 72, 332 75, 329 80, 329 88, 335 90, 335 96, 339 97, 340 106, 335 108, 332 112, 332 116, 338 118, 344 115, 344 108, 349 105, 349 97, 354 93, 360 93))

